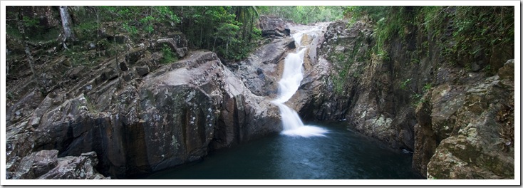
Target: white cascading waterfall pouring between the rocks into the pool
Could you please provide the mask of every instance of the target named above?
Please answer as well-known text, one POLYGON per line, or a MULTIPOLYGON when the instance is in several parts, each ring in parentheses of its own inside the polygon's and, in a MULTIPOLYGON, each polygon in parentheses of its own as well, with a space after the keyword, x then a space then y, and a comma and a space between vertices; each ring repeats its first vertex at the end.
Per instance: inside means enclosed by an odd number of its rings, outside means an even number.
POLYGON ((295 33, 293 35, 296 41, 296 53, 289 53, 285 58, 284 74, 281 76, 278 85, 278 98, 272 100, 272 103, 278 105, 281 115, 281 122, 284 130, 281 134, 299 137, 325 136, 327 130, 321 127, 304 125, 296 113, 284 103, 292 98, 292 95, 298 90, 301 80, 304 78, 304 54, 306 46, 301 46, 301 36, 304 33, 295 33))

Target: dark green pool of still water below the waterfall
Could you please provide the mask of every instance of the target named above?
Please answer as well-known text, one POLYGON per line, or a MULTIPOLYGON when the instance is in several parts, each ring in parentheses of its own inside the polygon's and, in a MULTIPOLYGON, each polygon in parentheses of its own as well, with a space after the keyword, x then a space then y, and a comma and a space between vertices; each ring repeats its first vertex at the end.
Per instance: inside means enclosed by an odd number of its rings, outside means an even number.
POLYGON ((329 130, 326 137, 273 135, 143 179, 422 178, 411 169, 411 154, 348 130, 343 122, 319 127, 329 130))

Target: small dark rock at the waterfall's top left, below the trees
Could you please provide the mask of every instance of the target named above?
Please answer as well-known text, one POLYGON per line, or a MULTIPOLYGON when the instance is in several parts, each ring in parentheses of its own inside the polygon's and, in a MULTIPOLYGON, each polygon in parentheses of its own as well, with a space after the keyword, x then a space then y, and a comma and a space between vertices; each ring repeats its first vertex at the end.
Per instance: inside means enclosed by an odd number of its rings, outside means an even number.
POLYGON ((262 29, 262 36, 290 36, 290 29, 286 28, 283 19, 269 16, 259 16, 259 27, 262 29))

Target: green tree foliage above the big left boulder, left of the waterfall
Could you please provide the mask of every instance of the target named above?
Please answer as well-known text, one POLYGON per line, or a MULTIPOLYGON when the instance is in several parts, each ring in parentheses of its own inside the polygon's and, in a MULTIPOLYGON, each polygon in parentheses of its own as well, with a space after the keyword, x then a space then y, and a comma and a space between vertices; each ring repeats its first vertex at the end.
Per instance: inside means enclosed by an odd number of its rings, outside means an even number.
POLYGON ((218 56, 238 61, 257 47, 261 38, 255 6, 183 6, 182 33, 192 48, 207 48, 218 56))

